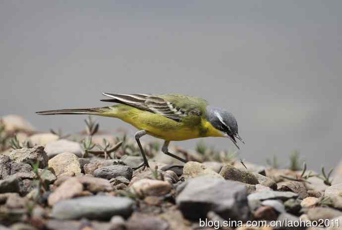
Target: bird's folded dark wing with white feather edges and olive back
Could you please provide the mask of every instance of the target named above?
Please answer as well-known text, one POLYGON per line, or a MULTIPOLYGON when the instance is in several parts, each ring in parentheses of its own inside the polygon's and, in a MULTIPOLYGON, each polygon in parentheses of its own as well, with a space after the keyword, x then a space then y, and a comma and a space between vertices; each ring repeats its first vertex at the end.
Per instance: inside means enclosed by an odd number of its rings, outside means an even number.
POLYGON ((102 101, 127 104, 141 110, 163 115, 177 122, 190 115, 202 116, 207 103, 201 98, 180 94, 103 94, 113 99, 102 101))

